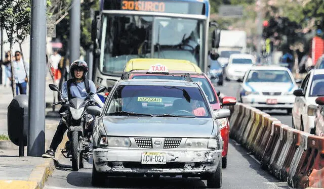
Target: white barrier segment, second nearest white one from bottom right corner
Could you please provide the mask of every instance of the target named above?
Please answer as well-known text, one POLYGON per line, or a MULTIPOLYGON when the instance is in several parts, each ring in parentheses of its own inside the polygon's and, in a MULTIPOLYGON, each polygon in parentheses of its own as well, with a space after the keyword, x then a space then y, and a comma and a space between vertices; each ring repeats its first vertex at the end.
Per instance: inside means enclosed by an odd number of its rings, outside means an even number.
POLYGON ((278 170, 278 159, 282 152, 282 149, 284 148, 284 145, 287 141, 287 130, 288 125, 280 124, 280 137, 279 140, 276 143, 276 146, 274 147, 274 150, 271 155, 270 163, 269 163, 269 171, 273 174, 276 173, 276 170, 278 170))

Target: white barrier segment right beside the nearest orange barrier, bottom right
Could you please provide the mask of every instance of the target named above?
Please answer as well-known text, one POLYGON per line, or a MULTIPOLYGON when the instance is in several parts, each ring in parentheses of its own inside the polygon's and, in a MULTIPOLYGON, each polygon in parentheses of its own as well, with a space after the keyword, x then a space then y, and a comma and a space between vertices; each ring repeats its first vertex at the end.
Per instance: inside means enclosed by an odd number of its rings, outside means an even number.
POLYGON ((290 164, 287 177, 288 184, 292 187, 297 187, 298 178, 296 176, 300 173, 301 165, 303 165, 305 161, 307 162, 309 152, 306 150, 308 149, 308 136, 310 135, 311 134, 306 132, 300 132, 299 147, 290 164))

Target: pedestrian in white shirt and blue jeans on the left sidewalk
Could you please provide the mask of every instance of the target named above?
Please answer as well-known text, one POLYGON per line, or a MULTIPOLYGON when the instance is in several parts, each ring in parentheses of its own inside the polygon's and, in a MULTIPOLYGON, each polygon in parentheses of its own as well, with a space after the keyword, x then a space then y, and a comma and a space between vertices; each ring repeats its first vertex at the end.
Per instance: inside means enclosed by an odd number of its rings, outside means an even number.
MULTIPOLYGON (((26 95, 27 93, 27 75, 24 68, 26 66, 27 73, 29 72, 29 64, 24 62, 21 58, 20 51, 15 52, 15 61, 13 61, 14 73, 15 73, 15 82, 16 82, 16 94, 26 95)), ((7 70, 8 78, 12 81, 11 78, 11 66, 8 66, 7 70)))

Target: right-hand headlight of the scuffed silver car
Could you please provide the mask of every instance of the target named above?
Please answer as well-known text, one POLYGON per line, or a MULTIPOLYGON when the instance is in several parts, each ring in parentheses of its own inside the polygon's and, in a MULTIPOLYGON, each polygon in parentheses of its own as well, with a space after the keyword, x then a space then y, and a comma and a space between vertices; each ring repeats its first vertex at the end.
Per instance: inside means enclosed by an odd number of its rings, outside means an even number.
POLYGON ((219 148, 216 138, 187 138, 185 148, 219 148))

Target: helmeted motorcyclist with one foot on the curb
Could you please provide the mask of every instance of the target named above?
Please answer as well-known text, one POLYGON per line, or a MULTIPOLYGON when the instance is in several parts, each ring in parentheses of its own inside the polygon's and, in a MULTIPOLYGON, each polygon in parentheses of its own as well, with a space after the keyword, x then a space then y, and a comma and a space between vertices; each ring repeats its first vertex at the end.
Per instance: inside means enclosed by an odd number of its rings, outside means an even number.
MULTIPOLYGON (((83 60, 76 60, 70 66, 71 79, 63 83, 61 99, 82 98, 85 99, 89 92, 96 93, 95 83, 86 79, 88 65, 83 60)), ((63 107, 62 107, 63 108, 63 107)), ((61 112, 61 110, 60 110, 61 112)), ((67 126, 60 121, 53 136, 50 148, 42 155, 43 158, 55 158, 55 151, 61 143, 67 126)))

